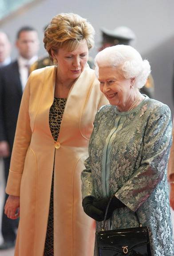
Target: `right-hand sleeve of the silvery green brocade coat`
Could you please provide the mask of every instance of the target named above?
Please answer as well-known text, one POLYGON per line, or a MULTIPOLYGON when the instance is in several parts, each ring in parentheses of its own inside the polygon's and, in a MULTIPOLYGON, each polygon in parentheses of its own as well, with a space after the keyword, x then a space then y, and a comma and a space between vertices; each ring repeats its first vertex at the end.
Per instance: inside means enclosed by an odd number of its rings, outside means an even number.
POLYGON ((115 196, 136 211, 166 175, 171 146, 171 113, 166 105, 154 109, 146 125, 141 165, 115 196))

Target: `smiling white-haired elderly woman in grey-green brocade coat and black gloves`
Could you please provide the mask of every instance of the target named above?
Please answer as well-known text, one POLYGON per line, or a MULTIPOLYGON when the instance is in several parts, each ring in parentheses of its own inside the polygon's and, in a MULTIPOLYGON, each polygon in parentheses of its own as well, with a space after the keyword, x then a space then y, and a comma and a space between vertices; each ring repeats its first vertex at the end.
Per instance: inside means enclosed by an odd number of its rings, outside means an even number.
POLYGON ((139 89, 150 74, 148 60, 131 46, 116 45, 95 57, 100 90, 110 105, 95 116, 86 169, 81 174, 83 209, 107 229, 138 227, 150 235, 152 256, 173 256, 166 167, 171 145, 171 113, 166 104, 139 89))

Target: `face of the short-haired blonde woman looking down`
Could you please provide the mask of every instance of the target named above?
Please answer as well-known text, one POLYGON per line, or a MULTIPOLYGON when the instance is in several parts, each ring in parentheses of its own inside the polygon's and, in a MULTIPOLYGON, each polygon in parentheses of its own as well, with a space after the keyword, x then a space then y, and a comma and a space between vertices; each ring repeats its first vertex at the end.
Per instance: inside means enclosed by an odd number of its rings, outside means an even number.
POLYGON ((57 52, 51 50, 51 54, 57 60, 58 76, 63 79, 75 80, 87 64, 87 42, 83 41, 74 51, 69 52, 67 48, 60 48, 57 52))

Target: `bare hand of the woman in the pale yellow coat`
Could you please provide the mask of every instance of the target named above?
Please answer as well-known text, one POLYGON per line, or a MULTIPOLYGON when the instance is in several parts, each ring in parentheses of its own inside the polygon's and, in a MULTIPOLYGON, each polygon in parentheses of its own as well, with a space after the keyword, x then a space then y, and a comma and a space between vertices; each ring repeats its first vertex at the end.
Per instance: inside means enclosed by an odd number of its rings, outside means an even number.
POLYGON ((8 218, 16 220, 20 216, 20 197, 8 196, 4 210, 8 218))

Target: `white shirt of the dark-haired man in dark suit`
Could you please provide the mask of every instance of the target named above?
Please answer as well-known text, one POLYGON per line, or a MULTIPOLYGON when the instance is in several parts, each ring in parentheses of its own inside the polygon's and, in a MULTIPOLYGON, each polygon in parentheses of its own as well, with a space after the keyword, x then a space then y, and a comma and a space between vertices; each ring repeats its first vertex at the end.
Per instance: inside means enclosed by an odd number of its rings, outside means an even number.
POLYGON ((30 60, 24 59, 22 56, 18 57, 20 81, 23 91, 28 80, 28 67, 30 67, 36 60, 38 60, 38 56, 33 56, 30 60))

